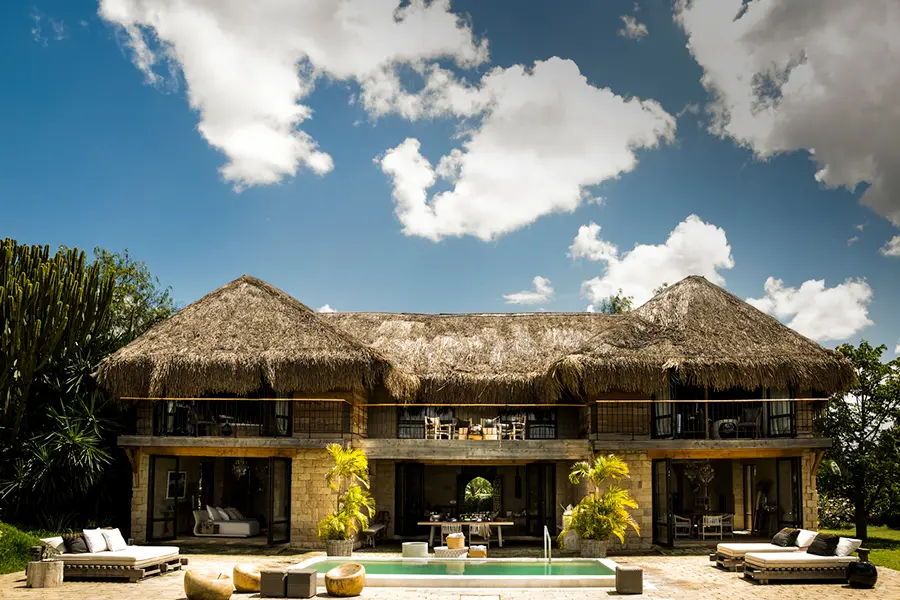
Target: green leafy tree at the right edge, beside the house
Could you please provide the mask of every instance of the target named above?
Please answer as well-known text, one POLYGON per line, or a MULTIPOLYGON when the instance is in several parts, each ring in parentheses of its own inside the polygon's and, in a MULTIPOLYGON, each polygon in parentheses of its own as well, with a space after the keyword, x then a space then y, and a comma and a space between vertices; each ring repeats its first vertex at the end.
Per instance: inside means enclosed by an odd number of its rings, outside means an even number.
POLYGON ((853 504, 856 536, 868 536, 869 516, 890 502, 900 479, 900 359, 882 362, 885 346, 865 340, 837 351, 853 363, 857 382, 846 394, 831 398, 822 431, 832 438, 829 462, 819 474, 822 493, 853 504))

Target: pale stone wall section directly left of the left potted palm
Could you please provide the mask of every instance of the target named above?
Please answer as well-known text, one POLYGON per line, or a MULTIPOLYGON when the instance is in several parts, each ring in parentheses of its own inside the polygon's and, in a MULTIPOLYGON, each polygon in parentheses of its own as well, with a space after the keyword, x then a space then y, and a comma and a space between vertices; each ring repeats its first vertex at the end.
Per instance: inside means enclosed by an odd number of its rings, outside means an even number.
POLYGON ((297 450, 291 462, 291 546, 323 548, 316 527, 334 508, 336 495, 325 483, 331 457, 323 449, 297 450))

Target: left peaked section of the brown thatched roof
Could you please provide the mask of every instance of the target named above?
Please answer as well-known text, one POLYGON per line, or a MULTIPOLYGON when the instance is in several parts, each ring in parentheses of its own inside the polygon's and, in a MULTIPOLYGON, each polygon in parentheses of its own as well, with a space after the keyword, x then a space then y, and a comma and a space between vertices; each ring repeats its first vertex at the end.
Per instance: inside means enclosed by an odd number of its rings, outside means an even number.
POLYGON ((316 394, 415 379, 259 279, 244 275, 185 307, 107 358, 98 381, 117 397, 316 394))

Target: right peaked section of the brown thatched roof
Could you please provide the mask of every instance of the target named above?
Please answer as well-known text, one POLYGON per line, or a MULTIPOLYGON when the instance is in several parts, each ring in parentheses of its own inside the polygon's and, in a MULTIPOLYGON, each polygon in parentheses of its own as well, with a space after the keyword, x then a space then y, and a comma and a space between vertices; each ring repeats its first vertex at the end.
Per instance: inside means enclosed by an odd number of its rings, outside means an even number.
POLYGON ((554 378, 577 395, 651 393, 670 376, 688 385, 846 389, 848 361, 703 277, 683 279, 616 319, 580 352, 557 361, 554 378))

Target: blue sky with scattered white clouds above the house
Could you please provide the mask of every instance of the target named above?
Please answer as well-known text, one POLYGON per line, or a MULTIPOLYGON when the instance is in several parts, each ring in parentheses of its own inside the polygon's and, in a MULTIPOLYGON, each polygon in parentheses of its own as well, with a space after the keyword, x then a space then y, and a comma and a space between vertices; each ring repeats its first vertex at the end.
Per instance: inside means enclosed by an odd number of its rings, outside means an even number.
POLYGON ((900 352, 895 0, 38 0, 0 19, 0 236, 190 303, 594 310, 703 275, 900 352))

